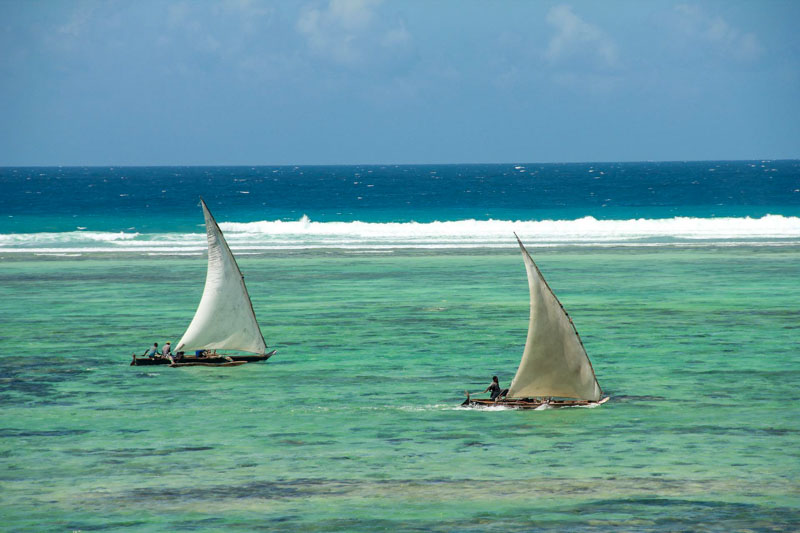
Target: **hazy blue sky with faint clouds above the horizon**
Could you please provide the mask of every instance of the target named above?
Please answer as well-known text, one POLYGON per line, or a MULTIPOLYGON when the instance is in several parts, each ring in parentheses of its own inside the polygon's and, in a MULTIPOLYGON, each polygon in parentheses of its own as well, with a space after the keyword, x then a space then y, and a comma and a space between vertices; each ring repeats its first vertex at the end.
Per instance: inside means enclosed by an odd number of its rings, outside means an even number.
POLYGON ((800 157, 800 2, 0 0, 0 165, 800 157))

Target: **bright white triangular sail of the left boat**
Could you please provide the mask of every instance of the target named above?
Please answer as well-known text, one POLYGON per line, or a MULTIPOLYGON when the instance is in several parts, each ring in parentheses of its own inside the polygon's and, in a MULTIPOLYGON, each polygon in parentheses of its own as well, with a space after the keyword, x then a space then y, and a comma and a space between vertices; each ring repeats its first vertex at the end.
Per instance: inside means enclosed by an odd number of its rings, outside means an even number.
POLYGON ((208 206, 203 200, 200 202, 208 236, 206 286, 176 351, 240 350, 263 354, 267 346, 244 277, 208 206))

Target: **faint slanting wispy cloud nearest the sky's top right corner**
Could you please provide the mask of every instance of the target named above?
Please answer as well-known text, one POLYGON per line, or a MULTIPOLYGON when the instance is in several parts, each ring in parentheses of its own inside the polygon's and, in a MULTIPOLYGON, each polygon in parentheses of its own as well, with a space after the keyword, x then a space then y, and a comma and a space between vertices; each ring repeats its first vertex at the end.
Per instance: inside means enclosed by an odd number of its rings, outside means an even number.
POLYGON ((742 61, 754 61, 764 52, 755 34, 734 28, 720 16, 707 15, 701 8, 688 4, 675 6, 675 12, 683 37, 695 43, 742 61))

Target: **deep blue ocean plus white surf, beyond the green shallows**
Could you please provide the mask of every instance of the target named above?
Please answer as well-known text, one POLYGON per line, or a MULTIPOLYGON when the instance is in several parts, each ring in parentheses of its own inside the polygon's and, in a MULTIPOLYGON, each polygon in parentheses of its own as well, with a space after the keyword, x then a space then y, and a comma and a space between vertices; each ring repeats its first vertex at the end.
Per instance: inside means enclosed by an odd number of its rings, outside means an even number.
POLYGON ((254 250, 780 242, 800 161, 2 168, 0 189, 0 251, 196 251, 200 197, 254 250))

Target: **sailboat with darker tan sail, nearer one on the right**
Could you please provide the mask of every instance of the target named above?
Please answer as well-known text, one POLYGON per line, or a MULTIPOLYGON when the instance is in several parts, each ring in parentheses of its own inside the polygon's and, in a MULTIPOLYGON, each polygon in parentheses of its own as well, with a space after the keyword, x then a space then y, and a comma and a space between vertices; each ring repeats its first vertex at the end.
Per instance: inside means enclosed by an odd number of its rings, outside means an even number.
POLYGON ((528 338, 522 361, 505 396, 501 395, 497 400, 472 399, 467 393, 462 405, 536 409, 605 403, 608 397, 603 397, 572 319, 519 237, 517 243, 528 273, 531 300, 528 338))

